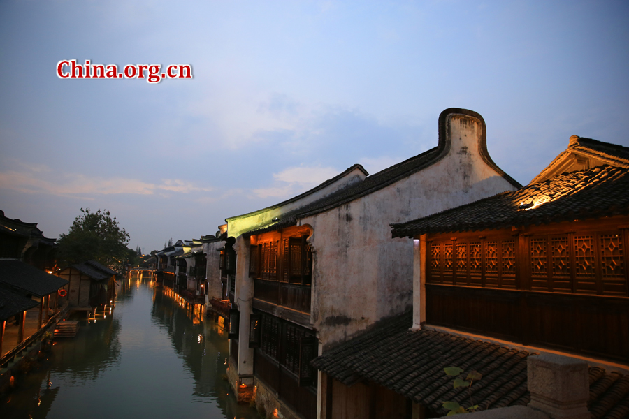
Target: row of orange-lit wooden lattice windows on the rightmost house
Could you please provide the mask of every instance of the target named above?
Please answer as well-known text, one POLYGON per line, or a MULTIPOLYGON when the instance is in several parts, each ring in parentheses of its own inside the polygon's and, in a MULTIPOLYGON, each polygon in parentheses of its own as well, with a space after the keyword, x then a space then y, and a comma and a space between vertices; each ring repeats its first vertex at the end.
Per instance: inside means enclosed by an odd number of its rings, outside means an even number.
POLYGON ((428 240, 426 281, 629 297, 626 234, 584 230, 518 239, 493 235, 428 240))

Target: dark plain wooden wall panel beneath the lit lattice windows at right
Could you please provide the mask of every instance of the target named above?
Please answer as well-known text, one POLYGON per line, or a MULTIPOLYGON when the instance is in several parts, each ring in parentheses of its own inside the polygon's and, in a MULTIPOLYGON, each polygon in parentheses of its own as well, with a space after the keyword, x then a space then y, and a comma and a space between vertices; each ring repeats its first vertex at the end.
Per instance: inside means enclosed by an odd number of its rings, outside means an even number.
POLYGON ((629 362, 629 300, 426 284, 428 324, 629 362))

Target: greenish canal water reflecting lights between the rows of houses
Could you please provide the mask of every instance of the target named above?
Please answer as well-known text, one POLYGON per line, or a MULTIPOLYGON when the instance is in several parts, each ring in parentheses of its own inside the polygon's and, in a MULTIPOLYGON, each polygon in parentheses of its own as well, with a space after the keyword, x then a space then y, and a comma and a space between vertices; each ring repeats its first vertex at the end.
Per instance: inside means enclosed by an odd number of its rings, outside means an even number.
POLYGON ((243 418, 226 381, 226 332, 168 288, 125 279, 115 307, 84 319, 73 338, 0 397, 0 418, 243 418))

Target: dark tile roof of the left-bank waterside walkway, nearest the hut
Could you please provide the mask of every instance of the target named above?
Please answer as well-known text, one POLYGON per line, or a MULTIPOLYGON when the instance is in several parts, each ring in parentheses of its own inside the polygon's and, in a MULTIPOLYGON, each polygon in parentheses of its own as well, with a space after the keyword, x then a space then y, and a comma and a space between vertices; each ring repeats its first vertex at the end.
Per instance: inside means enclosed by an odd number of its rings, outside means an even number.
POLYGON ((20 260, 0 260, 0 282, 9 288, 43 297, 55 293, 68 281, 48 274, 20 260))

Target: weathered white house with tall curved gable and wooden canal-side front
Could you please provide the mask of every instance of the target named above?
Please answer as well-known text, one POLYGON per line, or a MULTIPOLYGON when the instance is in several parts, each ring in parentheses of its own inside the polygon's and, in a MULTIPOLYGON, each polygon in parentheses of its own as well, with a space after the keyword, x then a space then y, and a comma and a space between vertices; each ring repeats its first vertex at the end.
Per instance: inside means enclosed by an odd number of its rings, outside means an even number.
POLYGON ((375 175, 354 165, 299 196, 226 219, 228 376, 239 398, 255 388, 268 412, 316 418, 325 397, 309 361, 412 307, 413 244, 391 238, 391 220, 519 186, 489 157, 482 117, 451 108, 427 152, 375 175))

